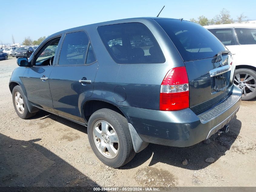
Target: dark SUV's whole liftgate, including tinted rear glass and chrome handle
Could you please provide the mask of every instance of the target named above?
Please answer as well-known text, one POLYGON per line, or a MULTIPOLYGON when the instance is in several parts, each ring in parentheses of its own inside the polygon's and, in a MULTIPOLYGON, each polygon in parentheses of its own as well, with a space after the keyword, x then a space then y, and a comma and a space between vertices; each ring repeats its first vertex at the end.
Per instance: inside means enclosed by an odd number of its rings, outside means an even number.
POLYGON ((190 108, 199 114, 229 94, 234 74, 232 59, 224 45, 207 29, 188 21, 155 19, 180 53, 188 73, 190 108), (223 70, 222 70, 223 69, 223 70), (232 71, 231 71, 232 69, 232 71), (222 71, 222 73, 220 73, 222 71))

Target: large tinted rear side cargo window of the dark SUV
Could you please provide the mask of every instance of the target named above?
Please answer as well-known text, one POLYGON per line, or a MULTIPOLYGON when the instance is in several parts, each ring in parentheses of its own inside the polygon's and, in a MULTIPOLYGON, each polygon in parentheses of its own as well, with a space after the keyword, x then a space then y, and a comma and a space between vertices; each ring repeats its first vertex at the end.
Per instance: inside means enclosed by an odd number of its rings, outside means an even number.
POLYGON ((142 23, 99 26, 98 32, 108 53, 119 64, 165 62, 154 36, 142 23))

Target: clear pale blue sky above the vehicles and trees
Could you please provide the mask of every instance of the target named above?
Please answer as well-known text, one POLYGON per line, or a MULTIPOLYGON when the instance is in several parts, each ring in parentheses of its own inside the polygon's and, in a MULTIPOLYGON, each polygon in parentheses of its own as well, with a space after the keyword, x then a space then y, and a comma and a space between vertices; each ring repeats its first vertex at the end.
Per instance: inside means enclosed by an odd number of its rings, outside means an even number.
POLYGON ((12 35, 15 43, 22 43, 28 36, 37 40, 41 36, 92 23, 155 17, 164 5, 159 17, 189 20, 204 15, 212 19, 225 8, 233 19, 244 13, 248 19, 256 20, 255 0, 1 0, 0 44, 12 44, 12 35))

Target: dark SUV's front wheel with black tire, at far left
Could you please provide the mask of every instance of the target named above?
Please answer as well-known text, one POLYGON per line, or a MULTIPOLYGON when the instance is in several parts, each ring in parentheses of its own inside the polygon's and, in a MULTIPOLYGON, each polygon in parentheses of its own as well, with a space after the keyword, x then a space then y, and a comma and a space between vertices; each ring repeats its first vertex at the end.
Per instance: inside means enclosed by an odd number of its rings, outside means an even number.
POLYGON ((22 119, 28 119, 35 116, 36 113, 30 113, 28 110, 25 95, 20 86, 15 86, 12 90, 12 103, 17 115, 22 119), (18 96, 20 94, 20 97, 18 96), (17 97, 17 98, 15 98, 17 97), (20 99, 19 99, 20 98, 20 99), (15 100, 16 99, 16 100, 15 100), (18 102, 17 102, 18 100, 18 102))

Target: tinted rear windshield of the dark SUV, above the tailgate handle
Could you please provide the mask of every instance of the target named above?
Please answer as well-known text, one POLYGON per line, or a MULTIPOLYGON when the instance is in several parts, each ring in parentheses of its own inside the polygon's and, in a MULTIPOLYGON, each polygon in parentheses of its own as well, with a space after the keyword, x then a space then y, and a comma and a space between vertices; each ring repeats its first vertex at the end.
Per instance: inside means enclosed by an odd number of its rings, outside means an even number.
POLYGON ((178 19, 155 19, 174 43, 184 61, 214 57, 226 50, 224 45, 204 27, 178 19))

